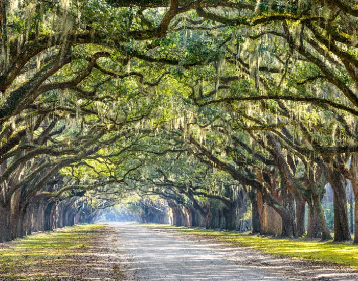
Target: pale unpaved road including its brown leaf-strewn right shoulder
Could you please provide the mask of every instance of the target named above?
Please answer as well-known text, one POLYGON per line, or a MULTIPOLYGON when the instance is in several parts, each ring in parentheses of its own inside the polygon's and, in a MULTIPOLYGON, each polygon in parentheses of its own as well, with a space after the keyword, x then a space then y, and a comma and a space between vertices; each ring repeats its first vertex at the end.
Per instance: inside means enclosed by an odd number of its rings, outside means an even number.
MULTIPOLYGON (((258 281, 358 280, 358 275, 329 266, 292 265, 246 248, 213 241, 188 241, 188 236, 137 224, 111 224, 120 236, 121 250, 131 261, 129 280, 136 281, 258 281)), ((307 262, 304 262, 307 263, 307 262)))

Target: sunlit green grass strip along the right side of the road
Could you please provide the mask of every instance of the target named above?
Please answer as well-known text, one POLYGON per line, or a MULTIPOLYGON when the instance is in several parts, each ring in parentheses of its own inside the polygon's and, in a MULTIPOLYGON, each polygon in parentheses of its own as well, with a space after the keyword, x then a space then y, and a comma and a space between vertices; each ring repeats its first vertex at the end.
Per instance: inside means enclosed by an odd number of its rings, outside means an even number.
POLYGON ((219 241, 233 245, 251 247, 279 256, 289 256, 309 260, 335 263, 358 269, 358 245, 351 243, 333 243, 332 241, 319 242, 305 239, 282 239, 274 237, 262 237, 249 233, 237 233, 229 231, 214 231, 193 229, 187 227, 164 226, 160 224, 144 224, 145 226, 163 228, 185 232, 189 235, 198 235, 215 238, 219 241))

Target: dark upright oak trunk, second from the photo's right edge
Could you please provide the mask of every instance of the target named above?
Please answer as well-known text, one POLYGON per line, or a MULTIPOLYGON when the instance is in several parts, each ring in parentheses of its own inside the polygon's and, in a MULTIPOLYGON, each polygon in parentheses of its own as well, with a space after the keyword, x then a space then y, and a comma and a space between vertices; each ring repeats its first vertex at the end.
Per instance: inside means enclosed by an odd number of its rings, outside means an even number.
POLYGON ((334 241, 352 240, 348 224, 345 179, 333 168, 329 169, 329 178, 333 188, 334 241))

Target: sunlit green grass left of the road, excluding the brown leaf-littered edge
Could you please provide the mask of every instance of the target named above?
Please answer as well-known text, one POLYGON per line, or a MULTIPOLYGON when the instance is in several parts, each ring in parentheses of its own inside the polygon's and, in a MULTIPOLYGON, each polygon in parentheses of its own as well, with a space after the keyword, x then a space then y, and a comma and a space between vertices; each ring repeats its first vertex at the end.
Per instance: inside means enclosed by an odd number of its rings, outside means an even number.
POLYGON ((85 258, 88 243, 103 228, 99 224, 66 227, 0 243, 0 280, 71 279, 69 268, 85 258))

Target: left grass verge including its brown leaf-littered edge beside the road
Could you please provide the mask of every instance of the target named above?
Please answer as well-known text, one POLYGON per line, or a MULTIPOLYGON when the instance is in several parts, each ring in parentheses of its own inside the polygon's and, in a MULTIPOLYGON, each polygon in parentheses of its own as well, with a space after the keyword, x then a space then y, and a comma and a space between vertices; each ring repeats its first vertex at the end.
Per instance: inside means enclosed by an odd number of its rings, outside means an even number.
POLYGON ((88 224, 0 243, 0 280, 121 280, 115 234, 88 224))

